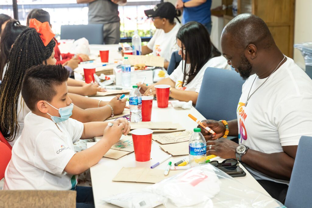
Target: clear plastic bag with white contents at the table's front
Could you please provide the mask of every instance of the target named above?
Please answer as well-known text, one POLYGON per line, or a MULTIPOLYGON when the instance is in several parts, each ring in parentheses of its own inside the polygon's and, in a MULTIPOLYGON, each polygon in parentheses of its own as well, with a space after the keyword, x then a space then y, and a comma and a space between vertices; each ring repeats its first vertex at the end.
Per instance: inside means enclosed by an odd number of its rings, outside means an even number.
MULTIPOLYGON (((144 193, 148 192, 168 208, 284 207, 279 201, 246 187, 211 164, 193 167, 155 183, 136 196, 143 199, 144 193)), ((122 198, 122 194, 114 197, 122 198)), ((129 197, 128 200, 135 198, 129 197)))

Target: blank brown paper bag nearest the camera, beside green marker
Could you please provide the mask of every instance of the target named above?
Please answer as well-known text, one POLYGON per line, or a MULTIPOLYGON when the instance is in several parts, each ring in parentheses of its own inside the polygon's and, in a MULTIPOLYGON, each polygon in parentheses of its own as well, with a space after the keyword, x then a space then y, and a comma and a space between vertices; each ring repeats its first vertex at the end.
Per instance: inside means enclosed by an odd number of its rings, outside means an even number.
POLYGON ((113 181, 157 183, 182 171, 170 171, 167 176, 163 172, 164 170, 145 167, 123 167, 113 178, 113 181))

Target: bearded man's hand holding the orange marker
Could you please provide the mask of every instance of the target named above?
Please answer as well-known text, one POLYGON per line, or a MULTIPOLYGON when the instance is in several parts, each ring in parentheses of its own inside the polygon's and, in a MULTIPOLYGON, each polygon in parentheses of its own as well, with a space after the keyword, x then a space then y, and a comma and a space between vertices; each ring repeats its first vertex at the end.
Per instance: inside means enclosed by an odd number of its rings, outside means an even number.
POLYGON ((219 121, 203 120, 202 124, 204 126, 211 128, 216 133, 215 135, 213 135, 213 134, 209 133, 205 128, 202 128, 200 125, 198 125, 197 128, 202 129, 201 133, 204 136, 204 138, 206 139, 206 141, 221 138, 225 133, 225 126, 223 123, 221 123, 219 121))

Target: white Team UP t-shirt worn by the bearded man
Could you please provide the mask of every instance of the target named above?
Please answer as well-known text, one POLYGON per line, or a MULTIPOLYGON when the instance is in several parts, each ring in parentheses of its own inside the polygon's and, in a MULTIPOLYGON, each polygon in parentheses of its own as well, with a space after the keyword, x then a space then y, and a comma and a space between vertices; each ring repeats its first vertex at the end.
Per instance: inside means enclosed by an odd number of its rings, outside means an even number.
MULTIPOLYGON (((283 146, 298 145, 301 136, 312 136, 312 80, 287 57, 255 94, 267 78, 251 75, 242 87, 237 106, 239 143, 265 153, 283 152, 283 146)), ((246 167, 257 180, 277 180, 246 167)))

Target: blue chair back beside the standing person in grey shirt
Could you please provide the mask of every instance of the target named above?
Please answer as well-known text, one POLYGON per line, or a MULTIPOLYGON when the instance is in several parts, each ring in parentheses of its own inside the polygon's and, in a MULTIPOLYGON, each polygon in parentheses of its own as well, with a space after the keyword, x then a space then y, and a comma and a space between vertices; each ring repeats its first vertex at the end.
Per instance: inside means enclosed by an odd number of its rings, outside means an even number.
POLYGON ((89 25, 61 25, 61 39, 75 39, 85 37, 89 44, 103 44, 103 24, 89 25))

